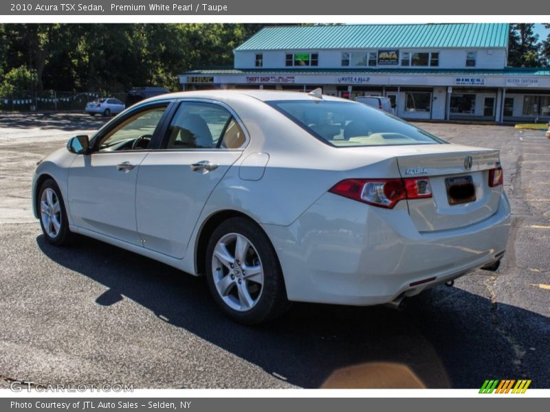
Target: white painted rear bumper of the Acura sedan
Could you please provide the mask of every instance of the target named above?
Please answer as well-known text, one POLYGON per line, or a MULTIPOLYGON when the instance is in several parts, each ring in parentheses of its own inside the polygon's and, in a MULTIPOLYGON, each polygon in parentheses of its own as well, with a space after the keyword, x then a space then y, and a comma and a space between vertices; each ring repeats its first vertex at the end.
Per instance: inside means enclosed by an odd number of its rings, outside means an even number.
POLYGON ((277 251, 290 300, 374 305, 416 295, 500 258, 510 207, 501 194, 496 213, 481 222, 419 233, 405 202, 387 210, 327 193, 292 225, 263 229, 277 251))

